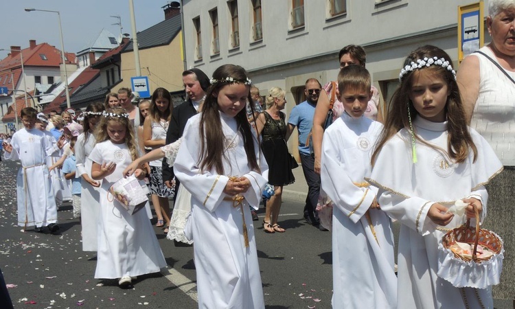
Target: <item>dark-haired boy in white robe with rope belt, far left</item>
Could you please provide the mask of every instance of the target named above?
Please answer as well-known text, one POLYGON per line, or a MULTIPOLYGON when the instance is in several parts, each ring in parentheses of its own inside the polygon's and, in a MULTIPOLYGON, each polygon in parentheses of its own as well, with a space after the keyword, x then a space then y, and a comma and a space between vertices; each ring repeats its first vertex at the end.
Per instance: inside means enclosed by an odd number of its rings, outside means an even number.
POLYGON ((21 161, 21 169, 16 176, 18 225, 24 229, 34 225, 36 232, 42 232, 47 226, 51 233, 56 233, 59 230, 57 207, 46 157, 58 148, 45 133, 34 127, 37 113, 32 107, 21 110, 24 128, 12 135, 10 143, 4 141, 3 148, 5 159, 21 161))

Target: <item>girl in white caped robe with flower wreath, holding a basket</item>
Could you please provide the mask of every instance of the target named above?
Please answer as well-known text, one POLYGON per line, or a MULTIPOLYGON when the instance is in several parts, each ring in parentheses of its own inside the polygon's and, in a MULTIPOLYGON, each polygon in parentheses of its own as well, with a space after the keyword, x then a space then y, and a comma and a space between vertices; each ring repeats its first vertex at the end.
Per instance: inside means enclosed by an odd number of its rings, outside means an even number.
MULTIPOLYGON (((466 218, 447 211, 457 200, 486 214, 484 184, 502 164, 466 126, 450 57, 437 47, 416 49, 404 62, 368 179, 380 188, 383 211, 402 223, 398 249, 398 308, 493 308, 491 288, 456 288, 438 277, 438 244, 466 218)), ((488 263, 483 262, 483 263, 488 263)))

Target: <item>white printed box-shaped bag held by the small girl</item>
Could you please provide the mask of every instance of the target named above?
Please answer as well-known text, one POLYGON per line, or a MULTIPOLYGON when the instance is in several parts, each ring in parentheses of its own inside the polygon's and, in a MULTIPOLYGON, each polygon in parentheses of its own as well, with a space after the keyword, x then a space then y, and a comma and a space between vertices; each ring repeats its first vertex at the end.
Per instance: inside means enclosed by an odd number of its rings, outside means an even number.
POLYGON ((145 207, 148 202, 147 194, 150 193, 144 181, 140 181, 136 176, 130 175, 113 183, 107 192, 107 200, 109 202, 114 199, 109 198, 109 194, 118 201, 128 211, 129 214, 136 214, 145 207))

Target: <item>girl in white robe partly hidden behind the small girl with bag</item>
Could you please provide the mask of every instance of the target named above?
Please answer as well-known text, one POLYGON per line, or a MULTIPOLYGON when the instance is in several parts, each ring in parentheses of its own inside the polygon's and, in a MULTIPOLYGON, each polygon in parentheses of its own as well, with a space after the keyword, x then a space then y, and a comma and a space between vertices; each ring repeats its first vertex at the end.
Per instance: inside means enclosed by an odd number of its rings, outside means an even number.
POLYGON ((89 104, 84 115, 84 133, 79 135, 75 144, 77 177, 81 177, 80 223, 82 227, 82 251, 97 251, 98 222, 100 219, 100 181, 91 178, 92 161, 89 155, 95 146, 93 134, 104 106, 100 103, 89 104))

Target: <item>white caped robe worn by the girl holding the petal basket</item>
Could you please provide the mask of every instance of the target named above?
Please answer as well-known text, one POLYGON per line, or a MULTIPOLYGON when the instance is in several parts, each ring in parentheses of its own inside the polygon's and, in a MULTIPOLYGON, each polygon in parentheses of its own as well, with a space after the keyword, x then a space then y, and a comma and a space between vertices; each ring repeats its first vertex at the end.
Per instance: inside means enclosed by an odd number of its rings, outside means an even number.
MULTIPOLYGON (((447 123, 413 121, 424 141, 447 150, 447 123)), ((475 197, 483 201, 483 217, 488 194, 483 187, 501 172, 503 165, 488 143, 475 130, 470 135, 477 147, 464 163, 453 163, 442 151, 416 142, 417 163, 413 163, 411 134, 402 129, 383 146, 369 182, 377 185, 379 204, 389 216, 402 223, 398 249, 398 308, 466 308, 461 289, 437 276, 438 243, 449 230, 466 218, 455 216, 446 226, 435 225, 427 216, 433 203, 450 207, 458 199, 475 197)), ((473 288, 465 288, 470 308, 481 308, 473 288)), ((485 308, 493 308, 491 288, 478 289, 485 308)))

